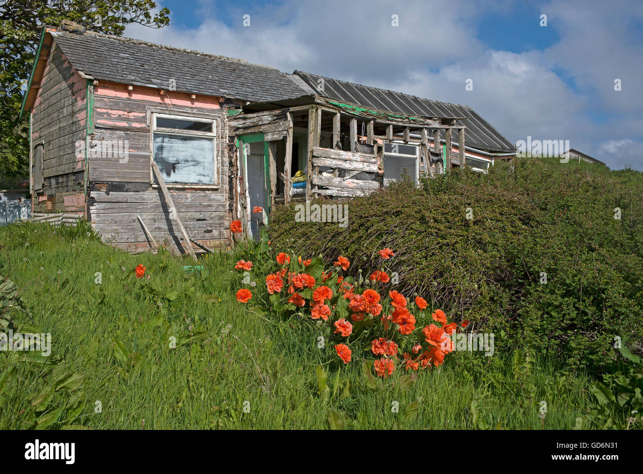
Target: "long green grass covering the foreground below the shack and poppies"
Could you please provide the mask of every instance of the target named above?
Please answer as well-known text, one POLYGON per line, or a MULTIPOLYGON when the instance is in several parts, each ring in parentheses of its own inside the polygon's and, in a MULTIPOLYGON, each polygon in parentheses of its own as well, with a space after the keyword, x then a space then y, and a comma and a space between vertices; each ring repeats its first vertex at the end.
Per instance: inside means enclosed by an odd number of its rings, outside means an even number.
POLYGON ((454 352, 415 380, 402 370, 372 379, 354 354, 347 366, 323 367, 325 393, 315 328, 266 319, 235 300, 231 269, 251 257, 243 249, 189 272, 188 260, 131 255, 69 232, 33 223, 0 231, 0 274, 21 289, 33 318, 19 321, 53 341, 47 360, 0 353, 0 429, 591 426, 590 379, 520 352, 454 352), (150 280, 133 276, 139 263, 150 280), (68 389, 60 383, 72 379, 79 383, 68 389))

